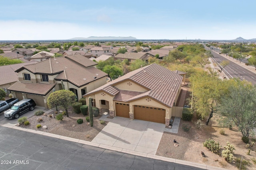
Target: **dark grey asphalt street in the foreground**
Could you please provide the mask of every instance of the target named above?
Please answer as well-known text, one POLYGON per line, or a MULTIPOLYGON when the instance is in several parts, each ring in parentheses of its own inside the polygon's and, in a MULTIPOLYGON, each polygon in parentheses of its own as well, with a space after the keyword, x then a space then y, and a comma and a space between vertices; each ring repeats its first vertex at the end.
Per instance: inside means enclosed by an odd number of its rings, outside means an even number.
POLYGON ((0 126, 1 170, 201 170, 0 126))

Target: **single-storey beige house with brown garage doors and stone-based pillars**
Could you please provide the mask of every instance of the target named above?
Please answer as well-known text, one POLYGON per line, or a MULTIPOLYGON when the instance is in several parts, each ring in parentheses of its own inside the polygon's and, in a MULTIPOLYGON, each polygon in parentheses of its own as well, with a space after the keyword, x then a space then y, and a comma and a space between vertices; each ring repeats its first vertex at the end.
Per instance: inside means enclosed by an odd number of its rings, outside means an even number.
POLYGON ((169 125, 172 116, 181 117, 176 103, 182 76, 158 64, 150 64, 125 74, 88 94, 96 107, 110 116, 127 117, 169 125))

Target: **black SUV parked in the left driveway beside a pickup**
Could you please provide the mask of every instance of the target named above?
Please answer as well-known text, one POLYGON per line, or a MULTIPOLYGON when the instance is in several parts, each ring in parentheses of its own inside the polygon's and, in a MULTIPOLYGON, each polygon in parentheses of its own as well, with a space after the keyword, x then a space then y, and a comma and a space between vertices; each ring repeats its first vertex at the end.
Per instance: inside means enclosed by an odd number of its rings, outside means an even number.
POLYGON ((17 119, 28 110, 34 110, 35 106, 36 103, 33 99, 20 100, 20 102, 17 102, 9 110, 4 112, 4 117, 8 119, 17 119))

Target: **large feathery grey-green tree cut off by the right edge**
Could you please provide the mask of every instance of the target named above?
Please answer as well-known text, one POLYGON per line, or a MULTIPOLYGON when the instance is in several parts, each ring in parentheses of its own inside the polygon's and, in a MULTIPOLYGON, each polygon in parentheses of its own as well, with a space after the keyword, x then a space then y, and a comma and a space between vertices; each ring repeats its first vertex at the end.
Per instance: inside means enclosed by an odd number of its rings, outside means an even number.
POLYGON ((235 124, 243 137, 256 128, 256 88, 246 81, 236 80, 228 92, 221 96, 217 113, 223 125, 235 124))

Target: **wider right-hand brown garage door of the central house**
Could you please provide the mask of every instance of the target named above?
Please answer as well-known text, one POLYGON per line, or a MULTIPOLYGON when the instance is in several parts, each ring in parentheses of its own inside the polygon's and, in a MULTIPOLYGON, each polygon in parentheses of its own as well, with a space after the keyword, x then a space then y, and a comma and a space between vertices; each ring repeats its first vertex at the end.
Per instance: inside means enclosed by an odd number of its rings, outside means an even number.
POLYGON ((165 109, 134 105, 134 119, 165 123, 165 109))

